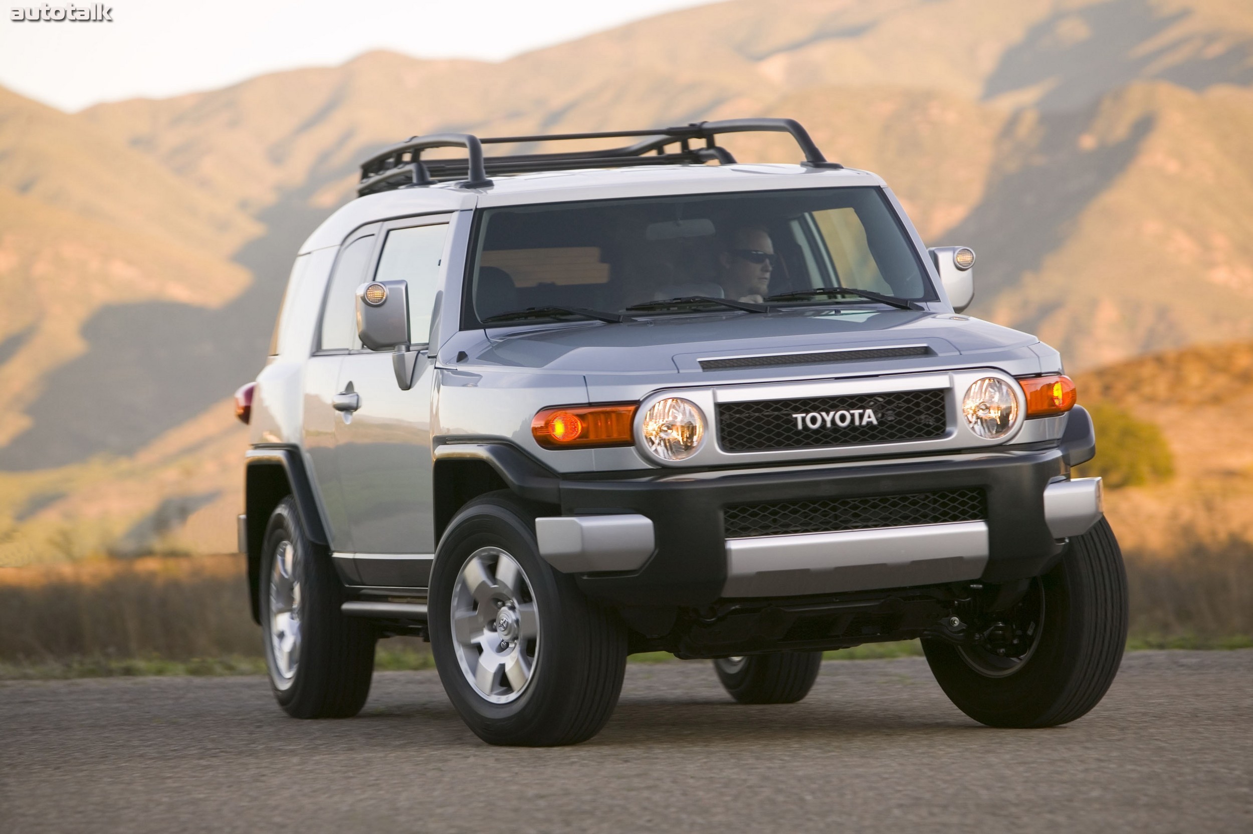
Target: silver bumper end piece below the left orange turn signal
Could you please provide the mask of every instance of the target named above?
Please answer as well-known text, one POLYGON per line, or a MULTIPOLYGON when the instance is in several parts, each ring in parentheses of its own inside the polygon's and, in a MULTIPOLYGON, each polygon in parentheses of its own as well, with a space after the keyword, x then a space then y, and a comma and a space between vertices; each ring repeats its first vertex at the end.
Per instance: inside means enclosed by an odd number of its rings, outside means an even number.
POLYGON ((653 521, 635 513, 536 518, 535 537, 563 574, 639 570, 657 547, 653 521))

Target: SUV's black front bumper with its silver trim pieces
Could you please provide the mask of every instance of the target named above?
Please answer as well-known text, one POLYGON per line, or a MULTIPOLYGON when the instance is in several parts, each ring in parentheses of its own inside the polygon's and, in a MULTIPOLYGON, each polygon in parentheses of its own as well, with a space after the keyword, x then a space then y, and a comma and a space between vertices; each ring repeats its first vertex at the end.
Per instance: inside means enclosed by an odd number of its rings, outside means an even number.
POLYGON ((887 463, 566 477, 558 490, 563 516, 579 521, 556 521, 564 530, 555 538, 545 536, 541 522, 541 553, 554 553, 551 561, 576 574, 586 594, 643 606, 975 579, 1004 582, 1045 572, 1061 552, 1059 531, 1078 535, 1099 517, 1099 487, 1066 482, 1068 472, 1063 451, 1049 448, 887 463), (1054 495, 1058 486, 1065 495, 1054 495), (985 491, 985 521, 729 541, 723 530, 723 508, 734 503, 966 487, 985 491), (1060 511, 1046 513, 1046 491, 1060 511), (632 518, 621 517, 626 515, 632 518), (604 535, 611 526, 598 530, 600 520, 614 516, 629 541, 604 535), (642 522, 650 522, 652 531, 642 522), (560 552, 546 547, 553 541, 560 552), (611 556, 603 557, 595 542, 610 542, 605 547, 611 556))

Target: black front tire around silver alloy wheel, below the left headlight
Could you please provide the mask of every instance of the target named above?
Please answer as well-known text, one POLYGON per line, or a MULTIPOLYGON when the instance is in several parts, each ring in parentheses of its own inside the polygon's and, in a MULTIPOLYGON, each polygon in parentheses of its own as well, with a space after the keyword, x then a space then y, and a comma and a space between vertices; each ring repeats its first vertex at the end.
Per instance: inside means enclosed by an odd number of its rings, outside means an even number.
MULTIPOLYGON (((479 587, 504 589, 505 585, 479 587)), ((489 592, 482 594, 481 599, 487 599, 489 592)), ((512 597, 502 594, 502 599, 512 597)), ((492 597, 497 611, 512 605, 500 606, 500 601, 492 597)), ((435 555, 427 602, 431 651, 440 680, 466 725, 487 744, 578 744, 599 733, 609 720, 626 669, 625 626, 611 611, 584 596, 573 577, 553 570, 540 557, 534 510, 509 492, 475 498, 449 525, 435 555), (475 564, 486 566, 491 581, 497 582, 495 571, 500 569, 501 553, 523 571, 525 582, 514 580, 515 586, 524 589, 519 599, 525 601, 517 607, 534 606, 530 616, 536 631, 534 642, 525 632, 519 632, 509 649, 531 659, 530 671, 523 672, 529 674, 525 682, 514 689, 501 674, 501 694, 494 694, 497 690, 491 686, 482 694, 470 665, 479 670, 482 657, 494 667, 501 662, 482 647, 495 637, 487 636, 487 630, 474 631, 477 635, 474 639, 480 642, 466 647, 454 635, 454 604, 456 599, 456 611, 465 629, 461 635, 466 637, 471 629, 477 629, 471 615, 477 616, 482 606, 477 602, 480 596, 467 602, 465 594, 471 584, 466 579, 459 582, 457 577, 470 570, 471 561, 485 560, 475 564), (507 691, 502 691, 505 687, 507 691), (497 700, 494 703, 490 698, 497 700)), ((495 624, 489 630, 495 630, 495 624)))

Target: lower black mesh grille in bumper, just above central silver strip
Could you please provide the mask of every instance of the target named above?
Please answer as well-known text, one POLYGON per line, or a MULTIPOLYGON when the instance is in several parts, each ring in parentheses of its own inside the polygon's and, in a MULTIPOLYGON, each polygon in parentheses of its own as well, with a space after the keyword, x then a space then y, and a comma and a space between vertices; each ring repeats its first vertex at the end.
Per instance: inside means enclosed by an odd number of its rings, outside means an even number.
POLYGON ((738 503, 723 510, 727 538, 938 525, 986 517, 987 501, 979 488, 868 498, 738 503))

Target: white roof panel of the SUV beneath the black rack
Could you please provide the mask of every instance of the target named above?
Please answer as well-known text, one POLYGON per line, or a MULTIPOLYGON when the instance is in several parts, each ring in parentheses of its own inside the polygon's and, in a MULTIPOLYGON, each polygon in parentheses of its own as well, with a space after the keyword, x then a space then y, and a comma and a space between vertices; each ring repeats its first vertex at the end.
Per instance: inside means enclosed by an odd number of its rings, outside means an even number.
POLYGON ((491 188, 465 189, 442 183, 355 199, 328 217, 304 242, 301 252, 338 245, 350 232, 366 223, 411 214, 476 207, 848 185, 883 185, 883 180, 877 174, 856 168, 786 164, 643 165, 492 177, 491 188))

